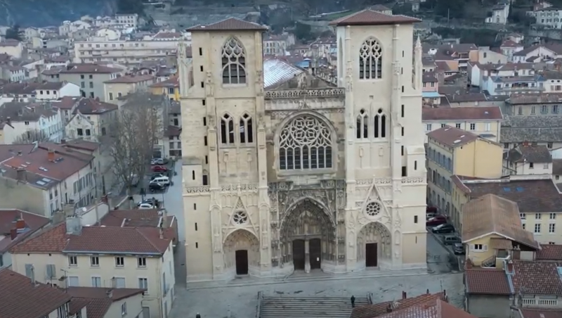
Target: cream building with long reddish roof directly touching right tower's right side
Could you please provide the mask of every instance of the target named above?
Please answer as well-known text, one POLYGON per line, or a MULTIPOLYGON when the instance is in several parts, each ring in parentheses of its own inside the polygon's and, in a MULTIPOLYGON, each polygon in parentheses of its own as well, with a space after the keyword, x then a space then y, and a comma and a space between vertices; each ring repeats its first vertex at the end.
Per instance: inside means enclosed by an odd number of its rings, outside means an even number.
POLYGON ((425 125, 426 133, 450 126, 476 134, 476 136, 481 136, 484 139, 499 142, 504 116, 501 108, 497 106, 424 107, 421 109, 421 120, 425 125))

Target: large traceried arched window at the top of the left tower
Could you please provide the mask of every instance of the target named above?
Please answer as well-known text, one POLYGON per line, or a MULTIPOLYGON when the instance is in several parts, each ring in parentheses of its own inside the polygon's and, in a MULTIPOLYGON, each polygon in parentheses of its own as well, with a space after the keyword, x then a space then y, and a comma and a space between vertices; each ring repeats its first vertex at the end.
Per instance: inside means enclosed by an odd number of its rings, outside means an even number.
POLYGON ((223 84, 246 84, 246 53, 242 43, 230 37, 223 45, 221 56, 223 84))

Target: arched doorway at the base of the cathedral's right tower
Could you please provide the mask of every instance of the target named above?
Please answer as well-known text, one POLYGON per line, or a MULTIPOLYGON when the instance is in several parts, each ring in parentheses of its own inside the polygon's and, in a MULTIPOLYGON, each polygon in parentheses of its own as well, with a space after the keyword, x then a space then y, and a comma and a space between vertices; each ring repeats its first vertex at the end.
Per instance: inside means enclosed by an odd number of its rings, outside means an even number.
POLYGON ((391 260, 391 233, 379 222, 362 227, 357 236, 357 262, 365 267, 380 268, 391 260))

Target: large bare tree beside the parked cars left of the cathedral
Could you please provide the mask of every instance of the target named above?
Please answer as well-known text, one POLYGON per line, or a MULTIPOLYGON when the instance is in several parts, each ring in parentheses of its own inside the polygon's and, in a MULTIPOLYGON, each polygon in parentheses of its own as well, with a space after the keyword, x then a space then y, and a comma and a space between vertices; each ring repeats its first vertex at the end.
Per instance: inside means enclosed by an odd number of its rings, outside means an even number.
POLYGON ((152 149, 163 134, 159 108, 152 103, 126 103, 110 122, 107 142, 110 143, 113 172, 125 187, 127 196, 131 196, 135 179, 143 179, 152 149))

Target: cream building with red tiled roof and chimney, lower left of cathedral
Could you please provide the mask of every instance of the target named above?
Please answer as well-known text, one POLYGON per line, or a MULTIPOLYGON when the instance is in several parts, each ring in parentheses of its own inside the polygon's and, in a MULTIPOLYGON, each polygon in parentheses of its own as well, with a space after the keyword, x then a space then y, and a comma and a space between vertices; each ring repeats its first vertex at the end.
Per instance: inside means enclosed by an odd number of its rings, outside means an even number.
POLYGON ((145 289, 143 312, 166 317, 174 302, 174 252, 163 229, 82 227, 69 217, 11 249, 12 268, 46 284, 145 289))

